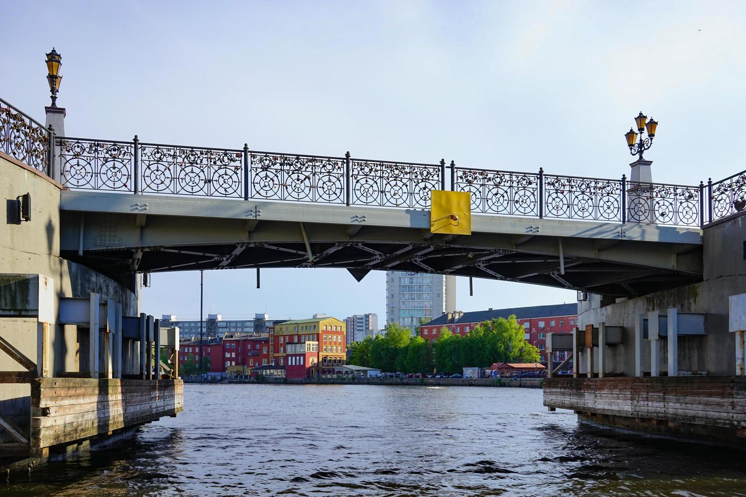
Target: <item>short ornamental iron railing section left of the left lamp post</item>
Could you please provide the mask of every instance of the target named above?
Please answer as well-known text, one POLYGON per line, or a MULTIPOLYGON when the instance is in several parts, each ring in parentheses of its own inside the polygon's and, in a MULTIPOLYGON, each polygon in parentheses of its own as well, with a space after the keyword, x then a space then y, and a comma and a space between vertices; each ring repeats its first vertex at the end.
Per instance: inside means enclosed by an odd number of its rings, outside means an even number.
POLYGON ((51 133, 0 98, 0 151, 49 175, 51 133))

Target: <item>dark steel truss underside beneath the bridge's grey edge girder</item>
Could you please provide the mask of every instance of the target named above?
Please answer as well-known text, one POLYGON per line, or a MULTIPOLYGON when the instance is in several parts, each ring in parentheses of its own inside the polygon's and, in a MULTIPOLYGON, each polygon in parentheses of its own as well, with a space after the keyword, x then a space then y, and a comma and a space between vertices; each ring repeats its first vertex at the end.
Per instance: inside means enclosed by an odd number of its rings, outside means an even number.
MULTIPOLYGON (((103 222, 104 227, 117 224, 122 223, 103 222)), ((380 227, 366 227, 350 235, 349 229, 339 227, 305 224, 301 229, 297 223, 274 223, 266 229, 255 226, 251 232, 244 230, 245 240, 201 243, 201 229, 208 230, 203 222, 184 220, 182 226, 184 229, 164 230, 153 222, 149 228, 140 227, 137 238, 144 243, 138 247, 86 247, 79 255, 78 250, 66 250, 63 243, 63 256, 112 276, 204 269, 345 268, 360 280, 370 270, 401 270, 548 285, 609 297, 648 294, 701 280, 693 270, 651 268, 600 258, 604 251, 613 256, 641 250, 641 242, 634 241, 599 244, 591 240, 585 243, 588 247, 581 247, 582 240, 566 240, 560 254, 554 237, 492 235, 480 239, 380 227), (492 243, 483 238, 491 238, 492 243), (157 243, 148 244, 148 240, 157 243)), ((217 228, 211 237, 221 238, 217 228)), ((96 239, 100 232, 94 230, 90 235, 94 244, 107 243, 100 236, 96 239)), ((125 235, 124 241, 117 237, 121 243, 130 238, 128 229, 122 227, 116 234, 125 235)), ((75 234, 71 235, 70 244, 76 245, 75 234)), ((686 247, 673 257, 686 260, 689 253, 697 259, 700 250, 686 247)))

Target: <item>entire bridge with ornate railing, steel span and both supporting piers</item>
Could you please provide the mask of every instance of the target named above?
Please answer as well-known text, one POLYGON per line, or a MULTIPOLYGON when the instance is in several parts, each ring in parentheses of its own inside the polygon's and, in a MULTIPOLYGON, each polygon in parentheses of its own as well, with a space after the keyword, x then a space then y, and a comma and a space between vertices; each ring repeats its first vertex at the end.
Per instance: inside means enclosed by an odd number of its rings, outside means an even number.
MULTIPOLYGON (((548 174, 542 168, 464 168, 445 160, 413 163, 358 159, 350 153, 251 151, 247 145, 164 145, 140 142, 137 136, 131 141, 83 139, 57 136, 53 127, 5 101, 0 101, 0 152, 0 166, 15 182, 6 194, 9 199, 20 194, 21 227, 11 230, 6 259, 11 269, 59 275, 61 282, 54 281, 57 312, 52 306, 46 324, 56 326, 57 339, 50 338, 51 343, 63 346, 49 358, 44 326, 36 341, 24 341, 36 336, 33 332, 18 333, 25 337, 19 343, 37 350, 37 362, 18 355, 17 347, 5 346, 4 352, 20 358, 27 371, 0 371, 0 382, 33 381, 52 389, 66 380, 71 387, 69 381, 75 379, 95 393, 98 379, 104 378, 115 390, 128 381, 154 382, 140 384, 145 393, 169 389, 165 401, 153 401, 160 402, 160 411, 145 402, 150 411, 118 419, 117 429, 181 409, 178 372, 164 379, 160 362, 143 365, 162 345, 157 323, 135 314, 135 274, 299 267, 345 268, 358 280, 370 270, 404 270, 585 291, 589 297, 579 303, 578 329, 568 343, 550 338, 548 344, 550 351, 571 352, 565 361, 573 359, 574 376, 584 373, 587 378, 548 379, 545 405, 645 431, 696 432, 727 440, 746 436, 746 295, 740 295, 746 285, 746 227, 741 219, 746 171, 680 186, 627 180, 625 175, 548 174), (22 176, 16 168, 36 176, 22 176), (16 192, 23 182, 32 190, 28 196, 16 192), (49 184, 61 191, 51 193, 49 184), (444 190, 469 193, 471 234, 431 229, 431 194, 444 190), (46 229, 38 224, 31 231, 22 229, 22 221, 31 221, 28 208, 36 205, 32 197, 43 203, 46 229), (122 306, 122 323, 134 326, 129 331, 113 326, 114 340, 125 341, 126 352, 117 350, 112 356, 108 324, 98 340, 90 332, 98 328, 99 293, 107 300, 105 312, 122 306), (66 321, 63 308, 78 306, 81 302, 72 300, 81 298, 90 301, 88 321, 66 321), (655 324, 664 316, 667 332, 655 324), (81 326, 88 338, 81 343, 77 365, 66 357, 74 349, 66 345, 63 325, 69 323, 81 326), (113 382, 112 367, 98 363, 98 349, 122 365, 116 372, 121 380, 113 382), (57 364, 57 355, 65 355, 64 364, 57 364), (77 370, 65 369, 71 365, 77 370), (734 369, 737 376, 730 376, 734 369), (674 378, 643 378, 661 373, 674 378), (698 377, 703 374, 709 379, 698 377), (666 401, 674 394, 678 407, 666 401), (618 402, 609 402, 609 395, 620 396, 618 402), (656 396, 654 405, 648 396, 656 396), (717 409, 711 404, 714 397, 717 409), (661 422, 668 424, 662 429, 661 422)), ((633 163, 633 177, 639 178, 637 165, 639 161, 633 163)), ((11 204, 16 206, 15 200, 8 200, 11 204)), ((8 212, 10 219, 13 213, 8 212)), ((0 317, 3 311, 0 306, 0 317)), ((41 316, 37 319, 44 324, 41 316)), ((17 324, 24 326, 25 321, 17 324)), ((178 338, 171 342, 178 352, 178 338)), ((19 411, 15 399, 4 407, 2 395, 0 391, 0 424, 4 412, 19 411)), ((32 392, 31 402, 37 397, 32 392)), ((125 407, 121 401, 106 399, 119 402, 117 409, 125 407)), ((110 426, 100 402, 92 397, 93 414, 85 416, 98 416, 102 424, 94 423, 86 433, 105 433, 110 426)), ((57 422, 46 420, 48 411, 37 407, 34 420, 42 427, 57 422)), ((28 449, 29 440, 37 443, 40 434, 32 429, 22 449, 28 449)), ((64 440, 78 434, 72 431, 64 440)), ((32 447, 42 455, 48 449, 43 443, 32 447)))

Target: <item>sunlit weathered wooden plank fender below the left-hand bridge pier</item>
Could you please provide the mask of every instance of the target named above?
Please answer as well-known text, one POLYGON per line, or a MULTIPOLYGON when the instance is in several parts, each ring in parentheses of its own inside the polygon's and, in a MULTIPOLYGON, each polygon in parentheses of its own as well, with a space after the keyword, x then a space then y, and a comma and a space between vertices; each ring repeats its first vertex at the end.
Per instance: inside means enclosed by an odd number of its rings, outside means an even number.
POLYGON ((44 378, 31 387, 31 446, 107 434, 184 410, 181 380, 44 378))

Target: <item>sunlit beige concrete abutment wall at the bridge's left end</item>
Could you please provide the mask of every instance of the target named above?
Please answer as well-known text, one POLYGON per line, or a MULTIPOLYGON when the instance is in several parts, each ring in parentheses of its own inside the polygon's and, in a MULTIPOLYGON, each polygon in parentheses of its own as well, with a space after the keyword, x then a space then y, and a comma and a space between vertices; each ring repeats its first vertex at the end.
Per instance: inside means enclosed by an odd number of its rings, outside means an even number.
MULTIPOLYGON (((137 314, 137 296, 107 276, 60 257, 60 190, 45 174, 0 152, 0 285, 3 274, 43 274, 54 280, 54 316, 60 297, 90 297, 122 303, 125 315, 137 314), (31 221, 17 222, 16 197, 31 194, 31 221)), ((49 371, 78 371, 81 337, 76 326, 51 323, 49 371)), ((30 317, 0 318, 0 336, 28 358, 37 357, 37 320, 30 317)), ((0 371, 24 371, 10 356, 0 352, 0 371)), ((0 385, 0 414, 20 428, 30 427, 31 386, 0 385)), ((0 442, 10 440, 0 430, 0 442)))

